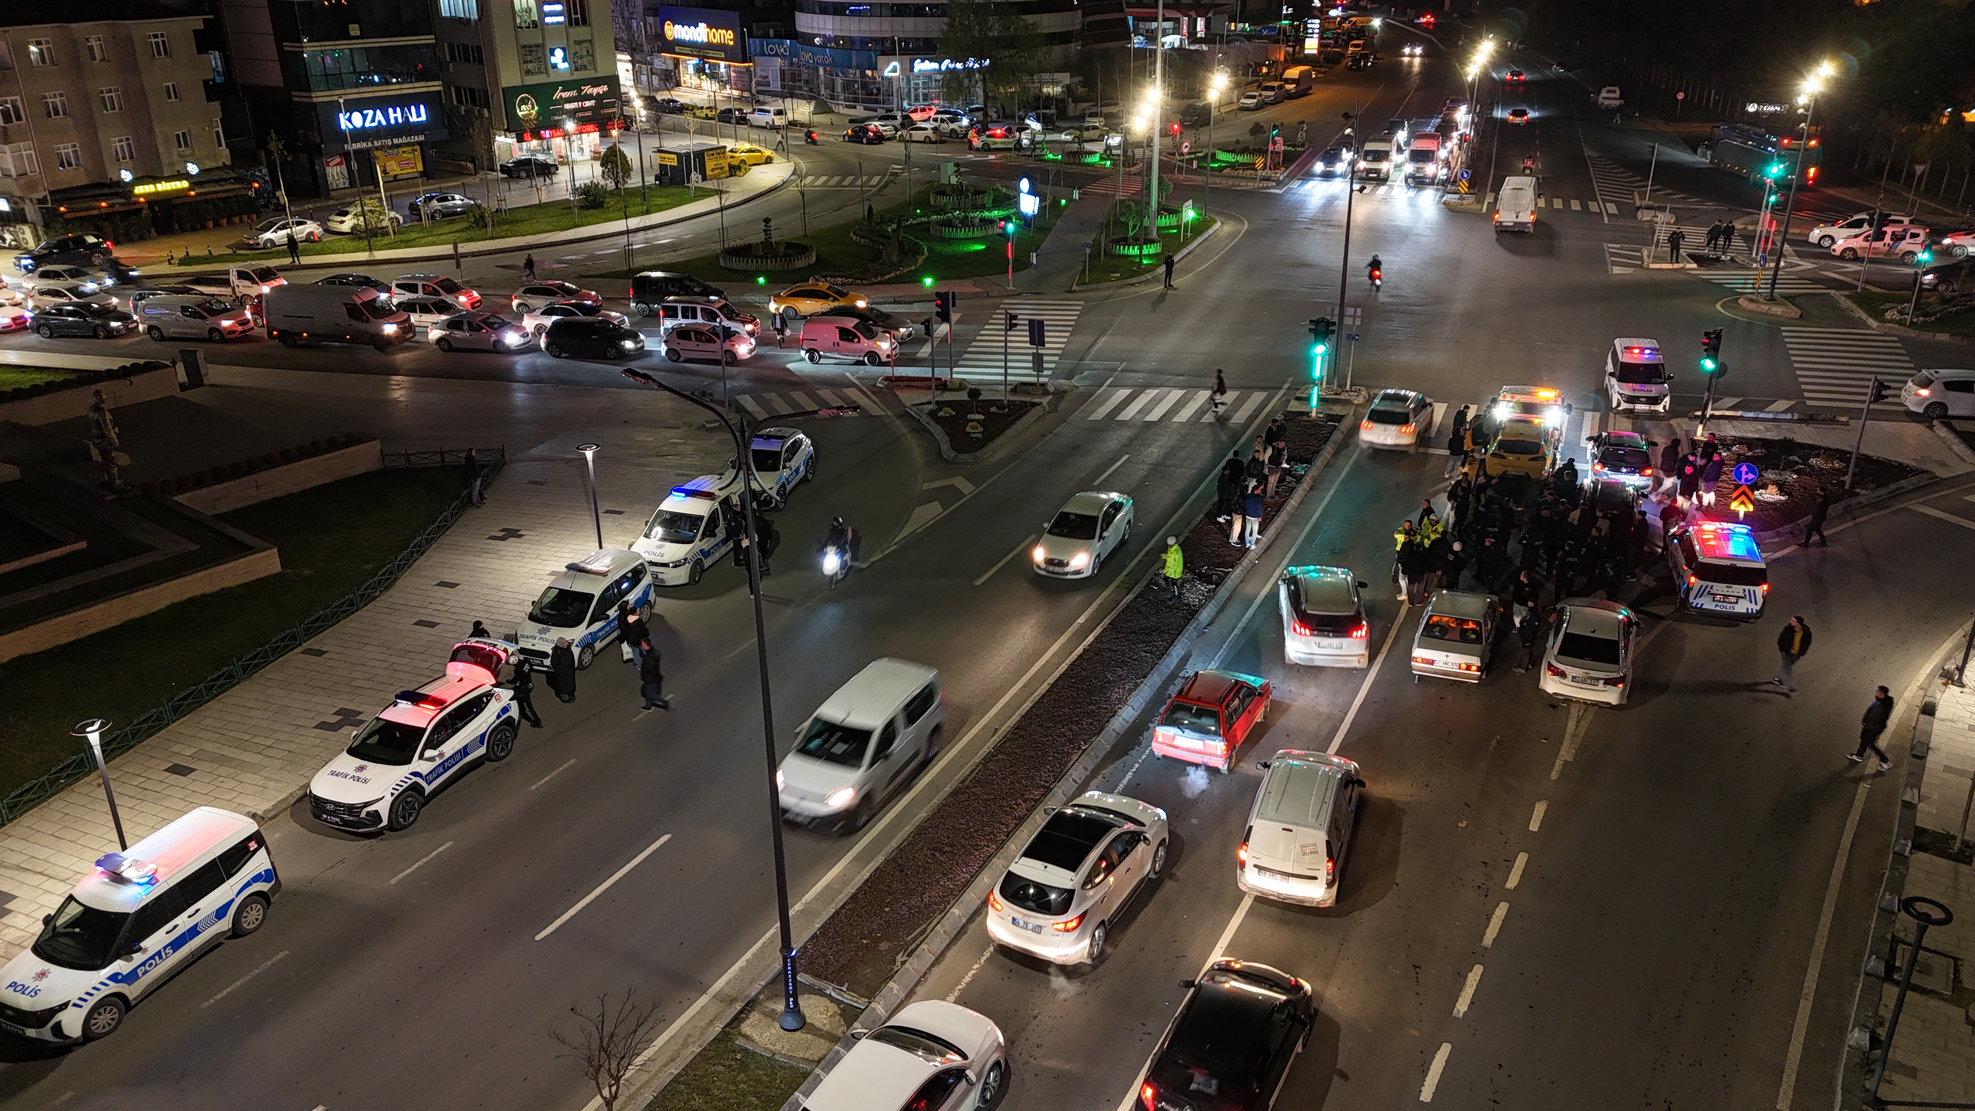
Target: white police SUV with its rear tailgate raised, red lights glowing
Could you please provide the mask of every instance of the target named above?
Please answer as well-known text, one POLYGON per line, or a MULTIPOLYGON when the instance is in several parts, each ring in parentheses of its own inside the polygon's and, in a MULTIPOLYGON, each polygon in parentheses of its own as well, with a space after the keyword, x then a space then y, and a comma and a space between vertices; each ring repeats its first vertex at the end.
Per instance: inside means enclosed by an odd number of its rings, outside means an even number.
POLYGON ((514 751, 514 692, 494 686, 514 644, 460 641, 446 674, 401 690, 308 781, 308 812, 340 830, 401 830, 425 801, 476 761, 514 751))

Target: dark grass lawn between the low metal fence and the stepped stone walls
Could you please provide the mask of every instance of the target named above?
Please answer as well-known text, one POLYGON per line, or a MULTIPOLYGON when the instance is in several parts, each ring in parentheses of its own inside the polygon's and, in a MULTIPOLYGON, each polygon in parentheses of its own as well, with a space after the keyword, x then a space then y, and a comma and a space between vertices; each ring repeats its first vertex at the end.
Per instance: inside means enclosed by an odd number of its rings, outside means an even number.
POLYGON ((280 573, 0 664, 0 797, 77 749, 83 718, 122 726, 377 573, 458 496, 456 469, 373 470, 225 514, 280 548, 280 573), (336 522, 334 528, 324 522, 336 522))

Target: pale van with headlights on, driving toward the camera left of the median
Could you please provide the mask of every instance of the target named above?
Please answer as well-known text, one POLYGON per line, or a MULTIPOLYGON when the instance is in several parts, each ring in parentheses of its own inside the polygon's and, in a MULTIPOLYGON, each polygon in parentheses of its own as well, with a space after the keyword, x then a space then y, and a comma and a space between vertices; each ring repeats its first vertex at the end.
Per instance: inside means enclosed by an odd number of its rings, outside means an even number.
POLYGON ((782 816, 865 828, 889 795, 932 763, 944 724, 940 672, 871 660, 796 729, 796 749, 774 773, 782 816))

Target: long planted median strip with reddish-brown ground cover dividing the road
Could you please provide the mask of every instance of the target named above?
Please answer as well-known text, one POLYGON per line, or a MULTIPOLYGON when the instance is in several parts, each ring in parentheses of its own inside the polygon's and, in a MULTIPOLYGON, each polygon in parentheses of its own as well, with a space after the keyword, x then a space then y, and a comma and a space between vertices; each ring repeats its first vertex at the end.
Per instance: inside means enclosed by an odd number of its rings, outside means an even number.
MULTIPOLYGON (((1270 413, 1266 409, 1256 423, 1270 413)), ((1181 534, 1187 577, 1179 599, 1169 599, 1147 577, 802 943, 804 979, 835 1000, 861 1006, 855 1026, 871 1028, 899 1006, 980 907, 997 866, 1019 848, 1041 812, 1074 793, 1126 739, 1136 718, 1175 678, 1191 641, 1278 538, 1276 522, 1296 510, 1313 486, 1313 474, 1345 441, 1337 435, 1339 427, 1339 413, 1292 415, 1292 470, 1268 500, 1262 548, 1230 546, 1226 526, 1203 508, 1181 534)), ((1215 465, 1219 469, 1219 461, 1215 465)), ((1189 504, 1199 504, 1211 482, 1209 476, 1189 504)), ((1151 532, 1147 544, 1157 546, 1151 532)), ((770 984, 766 994, 780 998, 780 986, 770 984)), ((652 1111, 766 1107, 764 1099, 772 1095, 794 1105, 798 1085, 786 1068, 772 1073, 782 1087, 764 1085, 764 1077, 754 1073, 749 1103, 737 1103, 723 1091, 733 1054, 749 1044, 741 1036, 745 1030, 743 1016, 721 1032, 660 1091, 652 1111)), ((812 1089, 847 1046, 847 1038, 837 1040, 822 1056, 820 1071, 800 1087, 812 1089)))

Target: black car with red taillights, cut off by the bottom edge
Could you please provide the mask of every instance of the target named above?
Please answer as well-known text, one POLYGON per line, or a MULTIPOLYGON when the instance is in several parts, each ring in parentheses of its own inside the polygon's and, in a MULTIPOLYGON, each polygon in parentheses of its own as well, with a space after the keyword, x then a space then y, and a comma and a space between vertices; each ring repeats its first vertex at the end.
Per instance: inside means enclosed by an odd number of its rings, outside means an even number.
POLYGON ((1309 984, 1268 965, 1215 961, 1187 986, 1138 1089, 1140 1111, 1274 1107, 1317 1018, 1309 984))

